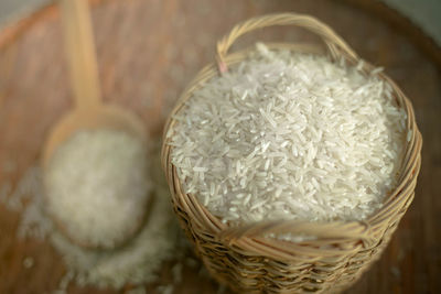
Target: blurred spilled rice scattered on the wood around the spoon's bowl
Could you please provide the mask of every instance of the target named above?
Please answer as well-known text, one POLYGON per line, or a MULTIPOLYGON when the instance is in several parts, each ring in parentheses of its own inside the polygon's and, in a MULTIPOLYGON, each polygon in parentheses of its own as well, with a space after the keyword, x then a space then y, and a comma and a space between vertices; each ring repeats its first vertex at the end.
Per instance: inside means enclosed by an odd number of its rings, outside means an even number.
MULTIPOLYGON (((90 142, 92 143, 92 142, 90 142)), ((126 146, 127 148, 127 146, 126 146)), ((122 152, 122 151, 115 151, 122 152)), ((141 222, 140 230, 122 247, 112 250, 88 249, 72 242, 54 225, 47 214, 45 189, 43 188, 43 172, 37 166, 31 166, 23 174, 15 188, 10 183, 0 183, 0 204, 13 211, 21 213, 17 235, 20 239, 36 239, 49 241, 56 249, 66 264, 66 273, 58 282, 58 288, 51 293, 67 293, 71 284, 78 286, 98 286, 120 290, 127 285, 138 286, 133 293, 147 293, 143 284, 161 281, 160 270, 165 261, 181 258, 186 248, 182 244, 179 226, 170 206, 170 193, 163 178, 159 162, 159 143, 149 144, 143 150, 148 157, 150 173, 143 181, 149 184, 152 200, 148 216, 141 222)), ((121 171, 121 170, 120 170, 121 171)), ((86 179, 87 181, 87 179, 86 179)), ((108 183, 108 185, 112 185, 108 183)), ((139 186, 138 186, 139 188, 139 186)), ((72 214, 66 208, 66 214, 72 214)), ((114 216, 106 216, 103 209, 96 218, 107 218, 112 222, 114 216)), ((130 215, 126 215, 128 219, 130 215)), ((176 263, 180 264, 180 263, 176 263)), ((34 264, 34 258, 23 260, 23 266, 40 269, 34 264)), ((176 266, 179 268, 179 266, 176 266)), ((182 268, 182 266, 181 266, 182 268)), ((181 273, 176 273, 178 275, 181 273)), ((173 280, 176 280, 173 277, 173 280)), ((176 284, 179 281, 176 281, 176 284)), ((158 287, 164 287, 159 284, 158 287)), ((170 293, 173 284, 166 285, 163 293, 170 293)), ((158 290, 158 293, 162 293, 158 290)))

